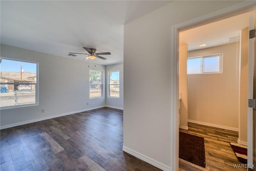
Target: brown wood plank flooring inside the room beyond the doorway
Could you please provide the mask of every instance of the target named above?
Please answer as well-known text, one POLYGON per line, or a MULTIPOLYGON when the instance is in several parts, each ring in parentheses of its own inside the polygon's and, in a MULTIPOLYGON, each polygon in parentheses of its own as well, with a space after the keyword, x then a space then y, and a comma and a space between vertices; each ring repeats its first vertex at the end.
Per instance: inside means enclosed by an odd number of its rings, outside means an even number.
POLYGON ((180 131, 204 137, 206 168, 179 159, 179 171, 247 171, 234 168, 234 164, 242 163, 236 158, 229 143, 237 143, 238 132, 191 123, 188 123, 188 130, 180 131))

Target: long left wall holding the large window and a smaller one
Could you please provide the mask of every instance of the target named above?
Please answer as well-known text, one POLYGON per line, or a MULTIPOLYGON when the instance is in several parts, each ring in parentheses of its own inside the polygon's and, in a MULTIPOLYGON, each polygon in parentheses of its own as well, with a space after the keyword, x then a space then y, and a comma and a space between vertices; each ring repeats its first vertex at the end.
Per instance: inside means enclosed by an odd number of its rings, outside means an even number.
MULTIPOLYGON (((1 128, 106 105, 102 98, 89 99, 89 70, 106 72, 106 66, 1 45, 1 57, 39 64, 39 105, 1 110, 1 128), (87 106, 86 103, 89 102, 87 106), (41 113, 44 109, 44 113, 41 113)), ((105 90, 105 88, 104 88, 105 90)))

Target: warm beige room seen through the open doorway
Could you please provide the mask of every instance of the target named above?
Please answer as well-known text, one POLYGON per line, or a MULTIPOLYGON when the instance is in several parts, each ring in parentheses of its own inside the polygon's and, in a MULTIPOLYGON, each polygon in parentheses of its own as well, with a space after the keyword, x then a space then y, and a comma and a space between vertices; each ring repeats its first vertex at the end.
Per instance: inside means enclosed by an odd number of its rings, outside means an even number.
MULTIPOLYGON (((180 132, 206 140, 204 163, 192 163, 229 170, 233 167, 227 163, 238 162, 230 142, 247 148, 246 51, 249 16, 254 13, 180 32, 180 132)), ((185 159, 181 167, 190 164, 187 154, 180 153, 185 159)))

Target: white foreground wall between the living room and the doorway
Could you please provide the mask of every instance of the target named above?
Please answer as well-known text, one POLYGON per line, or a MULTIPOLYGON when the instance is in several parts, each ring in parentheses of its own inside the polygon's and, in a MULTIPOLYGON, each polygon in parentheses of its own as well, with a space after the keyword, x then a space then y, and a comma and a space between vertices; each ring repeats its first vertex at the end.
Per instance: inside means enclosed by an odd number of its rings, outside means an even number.
POLYGON ((172 26, 238 2, 173 1, 124 26, 123 150, 170 170, 172 26))

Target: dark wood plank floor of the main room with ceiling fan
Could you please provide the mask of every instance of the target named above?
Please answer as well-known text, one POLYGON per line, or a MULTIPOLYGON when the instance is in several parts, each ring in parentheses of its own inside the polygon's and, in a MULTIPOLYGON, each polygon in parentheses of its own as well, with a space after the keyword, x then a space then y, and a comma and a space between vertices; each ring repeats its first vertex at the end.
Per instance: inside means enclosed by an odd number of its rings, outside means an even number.
POLYGON ((122 151, 122 110, 100 108, 0 133, 1 171, 160 171, 122 151))

